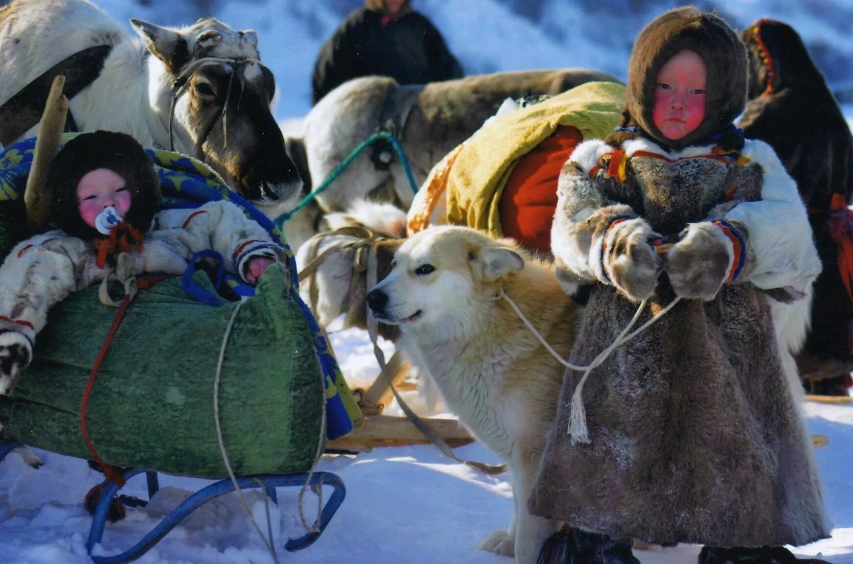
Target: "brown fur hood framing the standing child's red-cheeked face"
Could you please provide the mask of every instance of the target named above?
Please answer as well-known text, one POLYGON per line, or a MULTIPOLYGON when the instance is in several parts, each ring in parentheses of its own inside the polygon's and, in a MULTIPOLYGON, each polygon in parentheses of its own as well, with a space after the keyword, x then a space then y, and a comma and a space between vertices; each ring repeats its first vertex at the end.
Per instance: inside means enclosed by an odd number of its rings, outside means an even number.
MULTIPOLYGON (((636 127, 674 149, 731 128, 746 104, 746 49, 721 18, 692 6, 673 9, 640 32, 628 67, 624 126, 636 127), (682 139, 664 137, 653 123, 654 88, 660 69, 684 49, 695 51, 708 72, 705 119, 682 139)), ((633 135, 612 135, 617 145, 633 135)))

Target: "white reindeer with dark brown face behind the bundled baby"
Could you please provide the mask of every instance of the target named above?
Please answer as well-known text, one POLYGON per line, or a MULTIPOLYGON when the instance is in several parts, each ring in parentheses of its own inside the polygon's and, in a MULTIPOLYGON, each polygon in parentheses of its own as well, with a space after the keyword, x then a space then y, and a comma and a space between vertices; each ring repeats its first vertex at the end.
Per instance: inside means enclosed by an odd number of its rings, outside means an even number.
POLYGON ((139 37, 88 0, 0 8, 0 106, 18 103, 14 112, 0 109, 0 140, 38 133, 38 125, 20 130, 16 120, 34 112, 35 124, 44 106, 27 108, 16 93, 69 56, 109 46, 94 72, 70 72, 96 75, 69 96, 78 130, 121 131, 145 147, 199 158, 268 216, 292 208, 302 182, 270 112, 276 83, 259 60, 258 35, 213 18, 181 28, 131 19, 131 26, 139 37))

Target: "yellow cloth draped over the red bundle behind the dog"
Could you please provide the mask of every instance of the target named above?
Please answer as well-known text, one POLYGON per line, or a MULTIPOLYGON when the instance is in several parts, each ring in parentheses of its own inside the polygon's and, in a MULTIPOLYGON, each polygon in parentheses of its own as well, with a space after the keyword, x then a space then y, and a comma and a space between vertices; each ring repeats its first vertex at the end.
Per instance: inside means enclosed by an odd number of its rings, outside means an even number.
POLYGON ((498 203, 516 161, 554 133, 573 125, 583 139, 603 139, 622 119, 625 88, 585 83, 553 98, 493 119, 456 154, 447 177, 447 222, 502 236, 498 203))

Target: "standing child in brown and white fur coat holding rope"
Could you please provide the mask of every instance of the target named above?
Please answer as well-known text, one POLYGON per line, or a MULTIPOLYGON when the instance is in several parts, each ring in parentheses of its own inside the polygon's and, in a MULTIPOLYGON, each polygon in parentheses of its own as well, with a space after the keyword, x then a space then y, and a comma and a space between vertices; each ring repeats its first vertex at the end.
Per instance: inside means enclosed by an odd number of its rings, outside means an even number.
POLYGON ((591 372, 588 436, 567 433, 582 373, 566 372, 529 506, 574 527, 572 561, 638 562, 635 538, 770 564, 796 559, 769 547, 827 537, 777 340, 821 263, 779 158, 734 129, 745 101, 734 31, 672 10, 637 37, 623 126, 560 174, 552 250, 566 291, 589 297, 571 362, 642 301, 635 327, 681 298, 591 372))

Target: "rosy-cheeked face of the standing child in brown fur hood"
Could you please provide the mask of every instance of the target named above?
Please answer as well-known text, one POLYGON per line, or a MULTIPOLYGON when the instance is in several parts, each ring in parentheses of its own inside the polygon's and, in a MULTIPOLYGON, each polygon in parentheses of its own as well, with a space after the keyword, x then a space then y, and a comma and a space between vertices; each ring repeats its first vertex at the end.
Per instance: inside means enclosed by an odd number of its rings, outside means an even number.
POLYGON ((654 126, 672 141, 688 135, 705 119, 705 62, 684 50, 666 61, 654 89, 654 126))

